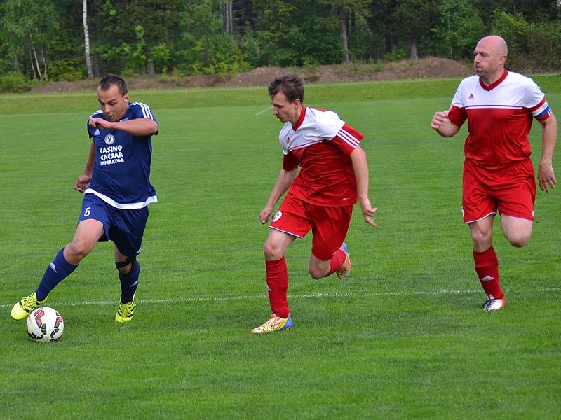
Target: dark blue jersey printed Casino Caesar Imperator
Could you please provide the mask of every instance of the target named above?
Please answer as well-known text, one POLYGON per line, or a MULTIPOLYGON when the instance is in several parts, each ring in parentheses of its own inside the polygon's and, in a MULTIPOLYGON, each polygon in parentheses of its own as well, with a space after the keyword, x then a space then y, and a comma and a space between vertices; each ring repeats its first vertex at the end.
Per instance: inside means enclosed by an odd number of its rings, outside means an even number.
MULTIPOLYGON (((96 111, 90 118, 104 118, 96 111)), ((150 107, 132 102, 119 121, 148 118, 156 121, 150 107)), ((89 120, 88 120, 89 121, 89 120)), ((90 186, 84 193, 95 194, 118 209, 141 209, 158 201, 150 183, 152 137, 137 137, 121 130, 102 130, 88 124, 95 144, 90 186)))

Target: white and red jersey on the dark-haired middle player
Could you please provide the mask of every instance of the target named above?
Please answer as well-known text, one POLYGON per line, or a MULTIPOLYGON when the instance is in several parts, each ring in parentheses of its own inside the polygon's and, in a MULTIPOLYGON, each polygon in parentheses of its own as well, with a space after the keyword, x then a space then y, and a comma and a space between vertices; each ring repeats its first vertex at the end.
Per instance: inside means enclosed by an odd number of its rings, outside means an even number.
POLYGON ((349 155, 363 137, 336 113, 302 106, 297 124, 285 123, 278 136, 283 169, 301 168, 289 194, 320 206, 355 204, 356 179, 349 155))

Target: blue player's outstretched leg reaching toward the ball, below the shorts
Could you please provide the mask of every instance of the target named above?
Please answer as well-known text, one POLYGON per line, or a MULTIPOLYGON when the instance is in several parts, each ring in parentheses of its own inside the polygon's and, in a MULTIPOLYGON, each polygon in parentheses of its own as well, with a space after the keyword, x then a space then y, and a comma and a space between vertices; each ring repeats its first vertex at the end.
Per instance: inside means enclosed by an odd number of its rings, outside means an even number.
POLYGON ((62 248, 50 262, 43 278, 31 295, 16 303, 11 311, 14 319, 23 319, 36 307, 46 301, 48 294, 67 276, 72 274, 79 262, 90 253, 100 237, 103 236, 103 223, 94 219, 83 220, 78 224, 72 242, 62 248))

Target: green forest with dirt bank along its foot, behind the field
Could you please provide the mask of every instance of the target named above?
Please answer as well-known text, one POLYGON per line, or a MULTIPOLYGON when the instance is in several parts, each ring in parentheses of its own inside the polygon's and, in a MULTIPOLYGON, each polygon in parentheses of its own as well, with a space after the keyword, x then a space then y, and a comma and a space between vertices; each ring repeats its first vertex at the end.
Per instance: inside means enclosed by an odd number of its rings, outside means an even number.
POLYGON ((506 39, 511 69, 561 69, 561 0, 1 0, 0 91, 107 73, 461 62, 486 34, 506 39))

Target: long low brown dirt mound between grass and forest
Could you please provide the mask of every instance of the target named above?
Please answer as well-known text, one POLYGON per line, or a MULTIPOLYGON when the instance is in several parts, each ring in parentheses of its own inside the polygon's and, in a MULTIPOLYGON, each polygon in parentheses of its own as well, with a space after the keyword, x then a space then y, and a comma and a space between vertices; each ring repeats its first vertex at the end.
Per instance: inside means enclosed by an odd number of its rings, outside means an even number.
MULTIPOLYGON (((127 78, 131 90, 174 87, 248 87, 266 86, 282 73, 288 71, 280 67, 257 67, 238 73, 231 78, 216 75, 197 75, 188 77, 158 76, 127 78)), ((472 69, 459 62, 445 58, 428 57, 419 60, 400 62, 377 62, 372 64, 339 64, 334 66, 313 66, 297 69, 306 83, 365 82, 370 80, 400 80, 414 78, 456 78, 473 74, 472 69)), ((90 92, 95 90, 95 82, 55 82, 36 87, 32 93, 50 92, 90 92)))

